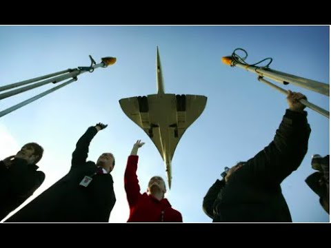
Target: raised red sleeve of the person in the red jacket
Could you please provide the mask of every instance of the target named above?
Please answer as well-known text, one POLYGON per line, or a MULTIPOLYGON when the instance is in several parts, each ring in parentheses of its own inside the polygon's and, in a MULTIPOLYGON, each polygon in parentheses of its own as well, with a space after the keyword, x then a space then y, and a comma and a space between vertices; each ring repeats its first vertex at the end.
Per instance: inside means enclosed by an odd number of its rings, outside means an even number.
POLYGON ((128 198, 129 206, 132 207, 141 196, 139 180, 137 177, 138 167, 137 155, 130 155, 126 164, 126 172, 124 174, 124 188, 126 189, 126 197, 128 198))

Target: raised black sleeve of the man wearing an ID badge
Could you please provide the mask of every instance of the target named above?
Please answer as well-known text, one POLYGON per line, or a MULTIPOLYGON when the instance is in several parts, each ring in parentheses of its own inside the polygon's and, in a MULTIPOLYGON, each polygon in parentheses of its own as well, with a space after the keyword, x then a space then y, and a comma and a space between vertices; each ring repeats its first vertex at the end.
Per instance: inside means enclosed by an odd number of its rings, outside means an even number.
POLYGON ((77 167, 86 163, 86 159, 88 158, 88 147, 95 134, 97 134, 97 129, 95 127, 88 127, 85 134, 79 138, 79 141, 76 144, 76 149, 74 149, 74 152, 72 153, 72 167, 77 167))

